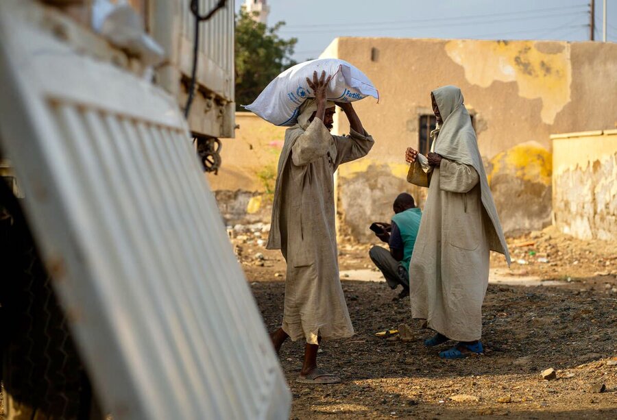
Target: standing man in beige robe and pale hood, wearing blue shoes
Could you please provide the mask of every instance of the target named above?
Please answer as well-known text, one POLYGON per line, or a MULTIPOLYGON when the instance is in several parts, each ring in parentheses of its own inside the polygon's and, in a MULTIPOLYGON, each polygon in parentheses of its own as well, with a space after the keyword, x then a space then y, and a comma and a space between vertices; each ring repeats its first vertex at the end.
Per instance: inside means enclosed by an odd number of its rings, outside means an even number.
POLYGON ((441 358, 482 353, 482 303, 491 250, 510 256, 470 115, 456 86, 431 92, 437 129, 427 156, 407 148, 407 181, 428 187, 409 266, 411 312, 437 334, 433 347, 458 343, 441 358))

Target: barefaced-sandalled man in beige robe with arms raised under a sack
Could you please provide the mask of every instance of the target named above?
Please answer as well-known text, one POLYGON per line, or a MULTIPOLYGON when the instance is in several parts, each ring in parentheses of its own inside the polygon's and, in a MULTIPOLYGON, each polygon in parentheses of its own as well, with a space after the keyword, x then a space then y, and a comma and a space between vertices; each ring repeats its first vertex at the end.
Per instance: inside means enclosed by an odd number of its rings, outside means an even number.
POLYGON ((339 278, 334 173, 340 164, 366 156, 373 146, 351 103, 338 103, 350 122, 349 136, 330 134, 335 103, 327 101, 330 76, 307 78, 315 99, 300 107, 298 123, 285 132, 278 161, 267 249, 287 262, 282 325, 271 334, 277 353, 291 338, 306 340, 297 381, 331 384, 340 378, 317 367, 322 339, 354 334, 339 278))

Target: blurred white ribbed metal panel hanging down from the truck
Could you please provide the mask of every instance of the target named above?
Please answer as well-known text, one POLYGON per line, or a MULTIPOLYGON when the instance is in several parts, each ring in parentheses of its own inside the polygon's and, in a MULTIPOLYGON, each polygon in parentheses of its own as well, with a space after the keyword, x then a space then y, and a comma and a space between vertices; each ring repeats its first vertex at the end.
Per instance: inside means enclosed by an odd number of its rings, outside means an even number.
POLYGON ((175 101, 0 3, 2 147, 117 419, 287 418, 290 395, 175 101))

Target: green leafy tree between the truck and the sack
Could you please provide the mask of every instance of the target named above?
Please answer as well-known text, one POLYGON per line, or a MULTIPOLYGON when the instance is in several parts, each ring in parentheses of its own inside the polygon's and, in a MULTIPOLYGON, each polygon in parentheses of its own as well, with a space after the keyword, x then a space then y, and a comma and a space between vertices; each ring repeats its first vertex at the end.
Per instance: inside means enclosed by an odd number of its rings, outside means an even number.
POLYGON ((236 109, 255 100, 282 71, 297 64, 291 59, 296 38, 276 34, 285 22, 273 27, 254 21, 244 8, 236 15, 236 109))

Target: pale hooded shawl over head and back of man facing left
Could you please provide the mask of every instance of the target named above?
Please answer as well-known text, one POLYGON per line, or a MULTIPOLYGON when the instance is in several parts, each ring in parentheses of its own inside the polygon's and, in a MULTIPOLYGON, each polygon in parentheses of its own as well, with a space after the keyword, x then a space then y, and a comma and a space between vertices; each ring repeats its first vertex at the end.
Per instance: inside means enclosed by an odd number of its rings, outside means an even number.
POLYGON ((473 166, 480 176, 482 204, 492 222, 489 230, 489 245, 493 251, 504 254, 510 264, 508 246, 503 236, 501 223, 489 188, 484 164, 478 149, 476 132, 467 108, 463 105, 463 94, 456 86, 444 86, 433 90, 433 96, 444 121, 435 140, 435 153, 448 160, 473 166))

